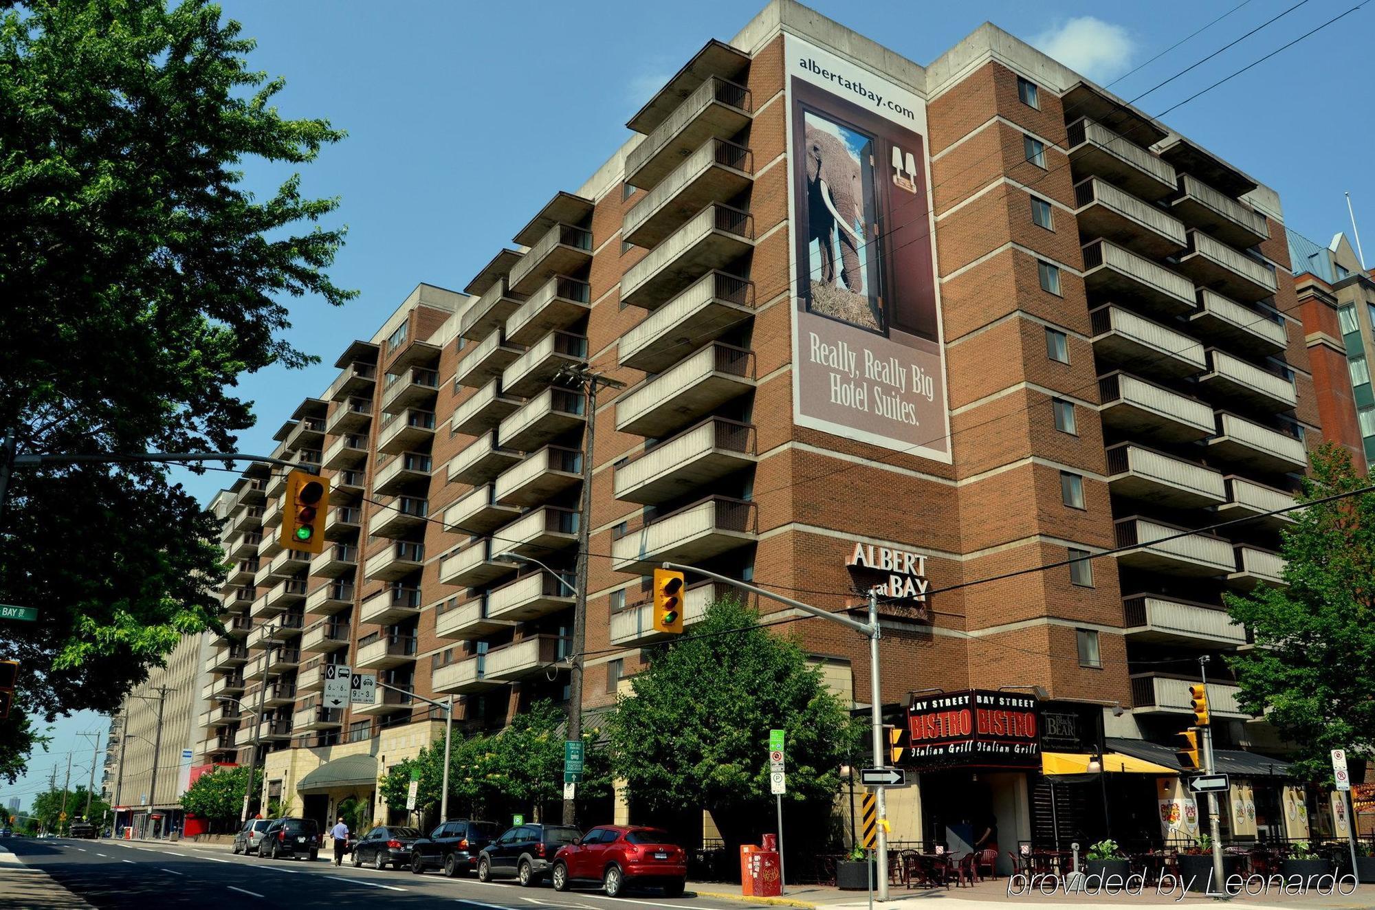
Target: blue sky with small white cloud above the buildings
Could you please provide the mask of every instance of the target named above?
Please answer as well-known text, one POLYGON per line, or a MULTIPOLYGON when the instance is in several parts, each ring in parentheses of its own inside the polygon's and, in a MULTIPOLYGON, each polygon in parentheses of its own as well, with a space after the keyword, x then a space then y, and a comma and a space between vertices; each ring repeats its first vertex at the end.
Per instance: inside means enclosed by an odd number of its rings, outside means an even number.
MULTIPOLYGON (((917 63, 987 19, 1110 82, 1238 3, 811 5, 917 63)), ((1132 99, 1292 3, 1250 0, 1112 89, 1132 99)), ((1309 0, 1138 104, 1162 111, 1354 3, 1309 0)), ((349 132, 305 170, 304 187, 342 198, 349 238, 333 275, 362 291, 341 311, 318 300, 286 301, 292 340, 323 363, 304 375, 265 370, 243 378, 241 392, 256 401, 258 425, 242 436, 241 451, 267 454, 301 397, 334 378, 344 346, 370 335, 417 282, 462 289, 556 190, 576 190, 615 151, 628 135, 626 120, 703 43, 729 40, 762 5, 226 0, 227 15, 258 40, 252 65, 286 78, 282 111, 326 117, 349 132)), ((1349 190, 1375 260, 1372 38, 1375 7, 1368 7, 1166 122, 1279 190, 1287 225, 1321 242, 1348 230, 1342 192, 1349 190)), ((260 194, 282 176, 252 164, 246 173, 260 194)), ((219 471, 179 477, 206 502, 231 480, 219 471)), ((81 742, 76 731, 95 729, 103 722, 92 715, 66 719, 52 749, 70 749, 81 742)), ((38 755, 32 764, 45 778, 65 760, 38 755)), ((4 793, 0 788, 0 800, 4 793)))

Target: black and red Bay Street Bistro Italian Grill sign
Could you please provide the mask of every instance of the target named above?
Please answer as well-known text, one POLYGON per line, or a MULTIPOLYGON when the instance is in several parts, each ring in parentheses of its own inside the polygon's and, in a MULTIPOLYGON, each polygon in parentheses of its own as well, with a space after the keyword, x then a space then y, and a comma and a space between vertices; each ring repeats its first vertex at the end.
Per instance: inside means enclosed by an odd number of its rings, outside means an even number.
POLYGON ((917 768, 1024 768, 1041 762, 1041 712, 1033 696, 946 691, 908 705, 908 749, 917 768))

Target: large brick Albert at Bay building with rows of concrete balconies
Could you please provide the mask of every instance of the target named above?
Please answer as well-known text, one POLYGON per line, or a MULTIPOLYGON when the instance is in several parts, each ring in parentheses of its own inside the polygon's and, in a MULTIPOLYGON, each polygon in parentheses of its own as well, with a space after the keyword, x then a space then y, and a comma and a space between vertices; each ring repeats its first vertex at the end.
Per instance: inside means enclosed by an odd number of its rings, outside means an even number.
MULTIPOLYGON (((656 564, 842 608, 873 546, 943 591, 887 609, 881 693, 864 639, 789 624, 846 700, 1040 687, 1041 748, 1159 770, 1209 654, 1218 748, 1244 767, 1228 830, 1306 836, 1313 797, 1247 764, 1277 744, 1218 658, 1246 645, 1221 594, 1279 580, 1287 518, 1159 542, 1292 504, 1323 439, 1275 191, 991 25, 923 67, 791 0, 628 126, 282 426, 275 454, 331 477, 326 553, 278 547, 282 471, 234 484, 205 759, 261 749, 267 795, 323 818, 441 729, 389 690, 326 709, 326 664, 455 696, 472 729, 566 698, 591 415, 554 377, 588 363, 626 384, 595 415, 588 709, 654 641, 656 564)), ((692 584, 689 624, 718 592, 692 584)), ((978 814, 1005 847, 1103 826, 1038 771, 927 770, 892 837, 957 847, 978 814)), ((1119 836, 1198 832, 1177 778, 1111 777, 1119 836), (1162 829, 1162 801, 1185 821, 1162 829)))

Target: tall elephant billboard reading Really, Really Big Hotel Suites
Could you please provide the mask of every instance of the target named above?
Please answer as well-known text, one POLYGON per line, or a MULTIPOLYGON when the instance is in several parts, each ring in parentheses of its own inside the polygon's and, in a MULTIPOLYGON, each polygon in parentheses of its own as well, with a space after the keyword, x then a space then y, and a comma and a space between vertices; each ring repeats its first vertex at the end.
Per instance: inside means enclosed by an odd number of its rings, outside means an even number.
POLYGON ((793 419, 949 463, 925 102, 796 36, 784 48, 793 419))

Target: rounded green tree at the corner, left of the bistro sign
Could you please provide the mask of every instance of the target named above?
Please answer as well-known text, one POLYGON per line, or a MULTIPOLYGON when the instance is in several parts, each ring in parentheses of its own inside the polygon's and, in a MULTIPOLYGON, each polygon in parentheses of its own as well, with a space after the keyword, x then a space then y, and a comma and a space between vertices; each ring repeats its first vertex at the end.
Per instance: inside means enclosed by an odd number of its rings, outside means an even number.
POLYGON ((771 729, 786 731, 785 806, 817 830, 862 730, 796 642, 758 619, 736 599, 712 603, 690 634, 653 653, 649 668, 631 678, 609 724, 612 768, 627 782, 632 807, 707 808, 729 850, 773 830, 771 729))

